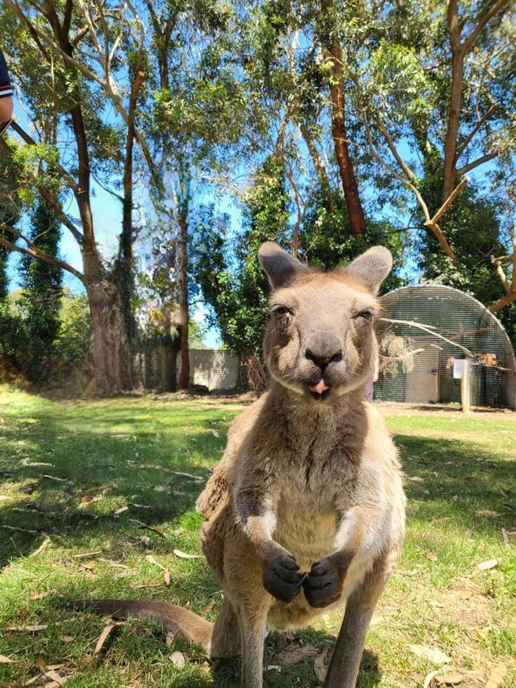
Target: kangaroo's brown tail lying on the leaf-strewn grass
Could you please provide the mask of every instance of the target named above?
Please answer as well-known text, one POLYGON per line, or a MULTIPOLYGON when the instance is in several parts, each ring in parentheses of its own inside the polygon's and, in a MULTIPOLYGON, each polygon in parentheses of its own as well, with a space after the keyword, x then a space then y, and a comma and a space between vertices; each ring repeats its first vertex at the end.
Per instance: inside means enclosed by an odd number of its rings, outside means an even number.
POLYGON ((209 652, 210 649, 214 624, 178 605, 157 600, 70 600, 66 607, 92 611, 94 614, 109 614, 115 619, 138 616, 157 621, 183 636, 185 640, 200 645, 205 651, 209 652))

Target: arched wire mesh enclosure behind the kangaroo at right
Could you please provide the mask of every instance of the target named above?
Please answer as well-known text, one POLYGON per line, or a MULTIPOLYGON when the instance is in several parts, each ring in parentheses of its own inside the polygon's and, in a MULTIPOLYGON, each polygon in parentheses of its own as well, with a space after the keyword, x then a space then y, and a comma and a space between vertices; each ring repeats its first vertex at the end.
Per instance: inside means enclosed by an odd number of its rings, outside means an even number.
POLYGON ((516 409, 516 360, 510 339, 473 296, 452 287, 420 285, 386 294, 382 306, 382 367, 375 399, 460 402, 453 363, 468 358, 471 403, 516 409))

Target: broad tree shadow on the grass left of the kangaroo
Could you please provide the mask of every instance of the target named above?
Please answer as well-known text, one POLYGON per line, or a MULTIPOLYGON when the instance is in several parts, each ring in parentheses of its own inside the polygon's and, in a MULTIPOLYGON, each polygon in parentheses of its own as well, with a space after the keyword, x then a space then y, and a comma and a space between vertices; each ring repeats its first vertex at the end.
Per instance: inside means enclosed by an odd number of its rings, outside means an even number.
MULTIPOLYGON (((128 519, 155 527, 173 523, 194 507, 209 464, 220 457, 225 426, 217 425, 215 436, 207 432, 212 421, 206 413, 194 414, 196 432, 191 432, 181 427, 185 416, 170 409, 156 418, 153 408, 153 417, 142 421, 137 408, 96 411, 82 418, 33 411, 31 425, 22 417, 1 428, 0 475, 4 488, 11 484, 17 494, 1 503, 0 567, 30 554, 44 535, 67 547, 87 547, 105 536, 117 554, 124 538, 138 530, 128 519), (199 431, 203 425, 205 431, 199 431), (116 434, 118 426, 127 426, 127 432, 116 434), (118 518, 114 508, 103 512, 102 501, 93 501, 99 495, 121 497, 129 509, 118 518)), ((141 526, 139 532, 152 534, 141 526)))

